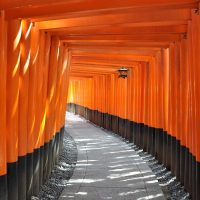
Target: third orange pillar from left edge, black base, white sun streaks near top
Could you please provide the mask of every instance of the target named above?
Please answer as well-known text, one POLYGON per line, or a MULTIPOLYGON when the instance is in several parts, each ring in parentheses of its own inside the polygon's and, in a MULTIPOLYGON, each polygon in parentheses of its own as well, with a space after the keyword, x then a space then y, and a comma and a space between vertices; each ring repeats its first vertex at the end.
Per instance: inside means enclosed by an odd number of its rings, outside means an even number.
POLYGON ((30 20, 22 20, 22 36, 20 43, 20 79, 19 79, 19 199, 26 200, 26 155, 28 135, 28 92, 30 67, 30 20))

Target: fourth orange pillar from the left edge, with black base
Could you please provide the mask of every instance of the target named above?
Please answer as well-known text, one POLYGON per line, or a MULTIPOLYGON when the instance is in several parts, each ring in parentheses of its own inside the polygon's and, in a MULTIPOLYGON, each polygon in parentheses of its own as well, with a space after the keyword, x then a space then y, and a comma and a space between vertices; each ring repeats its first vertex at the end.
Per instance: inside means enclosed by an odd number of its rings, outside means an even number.
POLYGON ((36 26, 31 29, 29 90, 28 90, 28 122, 27 122, 27 199, 31 198, 33 189, 33 152, 34 138, 36 135, 36 95, 37 95, 37 70, 39 56, 39 30, 36 26))

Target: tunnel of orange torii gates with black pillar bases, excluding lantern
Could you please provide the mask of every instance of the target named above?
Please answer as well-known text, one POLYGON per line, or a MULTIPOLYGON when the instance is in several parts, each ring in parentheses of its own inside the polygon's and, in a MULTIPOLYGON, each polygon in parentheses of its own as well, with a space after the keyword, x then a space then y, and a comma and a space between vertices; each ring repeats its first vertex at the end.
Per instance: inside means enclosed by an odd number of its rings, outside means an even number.
POLYGON ((154 155, 199 200, 199 0, 1 0, 1 200, 38 194, 67 104, 154 155))

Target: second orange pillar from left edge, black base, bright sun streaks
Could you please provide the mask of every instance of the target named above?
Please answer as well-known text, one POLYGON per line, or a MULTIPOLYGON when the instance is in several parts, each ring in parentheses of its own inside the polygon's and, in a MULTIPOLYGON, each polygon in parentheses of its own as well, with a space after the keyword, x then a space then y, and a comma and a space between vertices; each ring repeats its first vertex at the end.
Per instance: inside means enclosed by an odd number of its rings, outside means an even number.
POLYGON ((7 161, 8 161, 8 199, 18 199, 18 105, 20 72, 21 20, 8 21, 7 42, 7 161))

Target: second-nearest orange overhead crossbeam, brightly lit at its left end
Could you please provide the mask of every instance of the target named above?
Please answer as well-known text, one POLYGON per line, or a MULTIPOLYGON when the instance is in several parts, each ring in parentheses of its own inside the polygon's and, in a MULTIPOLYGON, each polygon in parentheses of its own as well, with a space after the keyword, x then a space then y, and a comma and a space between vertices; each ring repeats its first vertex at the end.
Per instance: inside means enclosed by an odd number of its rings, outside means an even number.
MULTIPOLYGON (((141 12, 136 10, 130 13, 115 13, 106 15, 94 15, 86 17, 75 17, 62 20, 51 20, 38 22, 40 29, 56 29, 56 28, 67 28, 67 27, 87 27, 87 26, 98 26, 98 25, 114 25, 124 23, 145 23, 148 25, 150 22, 161 22, 166 21, 188 21, 191 19, 191 11, 189 9, 174 9, 174 10, 157 10, 141 12)), ((173 23, 172 23, 173 24, 173 23)))

